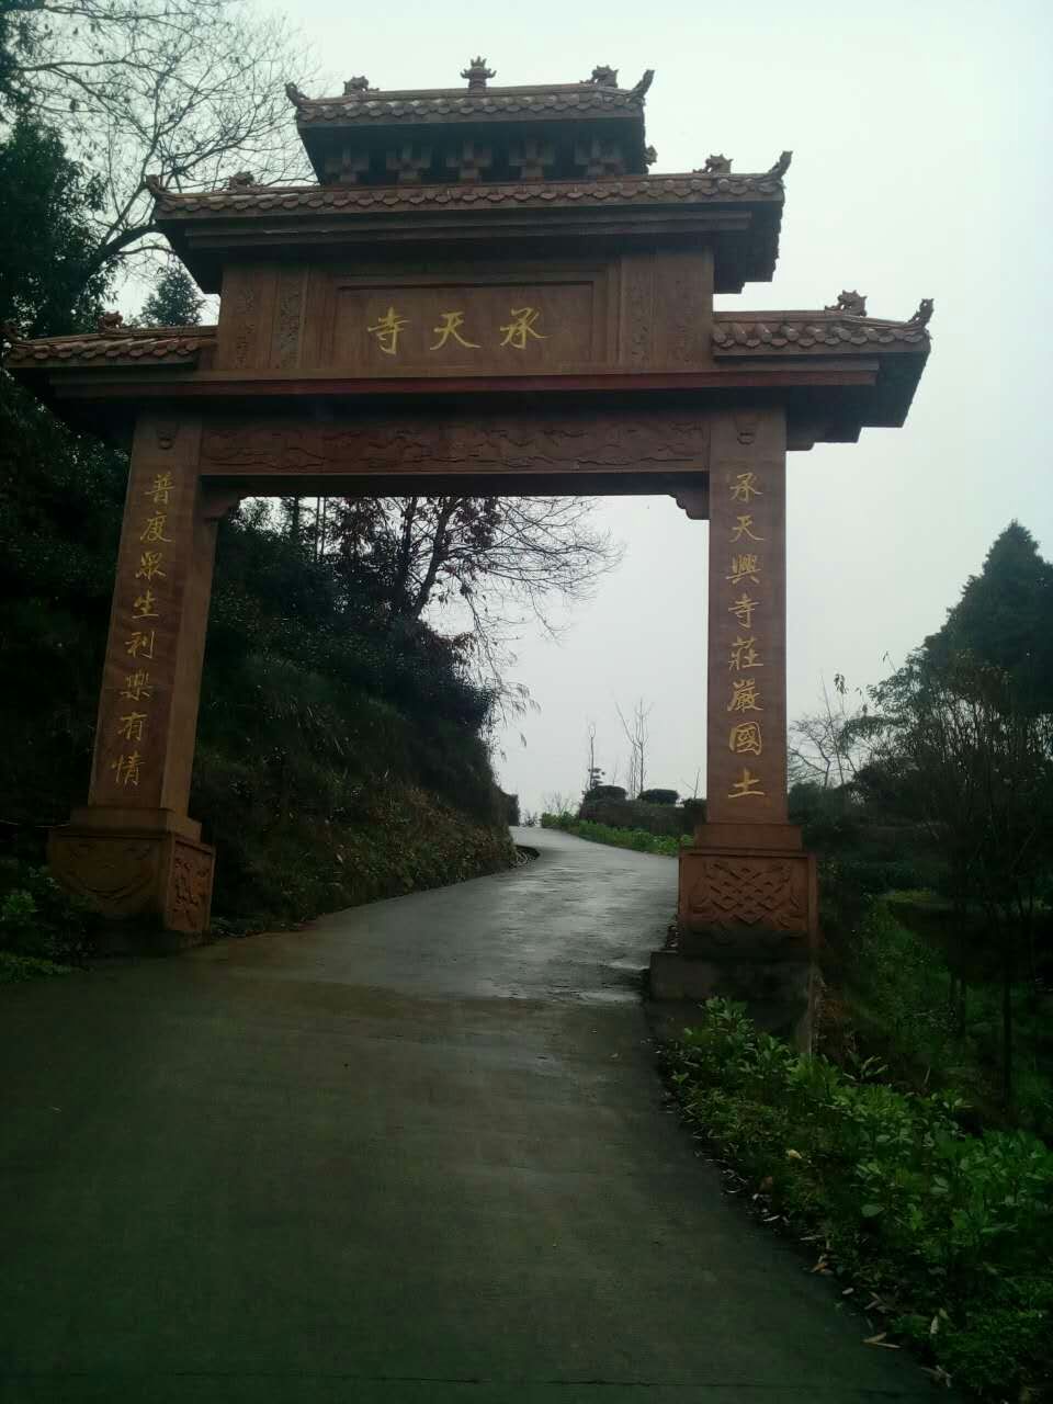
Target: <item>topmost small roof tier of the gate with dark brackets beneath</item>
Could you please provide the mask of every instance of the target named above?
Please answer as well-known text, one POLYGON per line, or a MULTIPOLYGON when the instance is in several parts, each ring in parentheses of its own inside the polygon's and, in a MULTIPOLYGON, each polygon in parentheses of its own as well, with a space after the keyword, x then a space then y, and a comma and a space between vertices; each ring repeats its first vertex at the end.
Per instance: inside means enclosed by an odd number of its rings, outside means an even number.
POLYGON ((326 184, 404 185, 640 176, 643 102, 651 73, 618 87, 614 69, 584 83, 487 87, 475 59, 466 88, 380 91, 351 79, 340 97, 289 87, 296 126, 326 184))

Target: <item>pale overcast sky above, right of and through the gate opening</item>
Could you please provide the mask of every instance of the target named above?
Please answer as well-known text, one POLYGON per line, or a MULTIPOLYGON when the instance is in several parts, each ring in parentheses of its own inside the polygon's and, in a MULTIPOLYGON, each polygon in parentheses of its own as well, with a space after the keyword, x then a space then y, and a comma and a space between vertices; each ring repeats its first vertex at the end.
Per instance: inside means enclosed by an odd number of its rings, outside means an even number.
MULTIPOLYGON (((710 152, 758 171, 793 150, 775 279, 719 306, 821 307, 856 288, 872 314, 906 319, 935 298, 907 424, 789 458, 790 716, 824 675, 875 682, 886 654, 938 628, 1011 518, 1053 555, 1047 0, 300 0, 289 14, 330 93, 357 73, 458 86, 480 52, 494 86, 578 81, 598 63, 630 86, 653 67, 654 171, 710 152)), ((498 775, 528 809, 580 792, 588 720, 601 764, 625 775, 616 701, 653 703, 649 783, 689 790, 705 762, 708 526, 660 497, 608 498, 600 515, 623 564, 560 643, 535 629, 517 647, 512 675, 539 710, 507 727, 498 775)))

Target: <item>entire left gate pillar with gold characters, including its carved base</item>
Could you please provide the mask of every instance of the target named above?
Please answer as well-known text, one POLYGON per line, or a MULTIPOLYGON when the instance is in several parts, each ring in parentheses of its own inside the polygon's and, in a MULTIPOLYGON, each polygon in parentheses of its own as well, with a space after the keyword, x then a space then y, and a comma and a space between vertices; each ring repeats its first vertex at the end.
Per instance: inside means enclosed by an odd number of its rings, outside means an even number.
POLYGON ((132 448, 88 802, 49 834, 55 878, 110 917, 208 928, 213 849, 187 814, 219 517, 201 424, 140 417, 132 448))

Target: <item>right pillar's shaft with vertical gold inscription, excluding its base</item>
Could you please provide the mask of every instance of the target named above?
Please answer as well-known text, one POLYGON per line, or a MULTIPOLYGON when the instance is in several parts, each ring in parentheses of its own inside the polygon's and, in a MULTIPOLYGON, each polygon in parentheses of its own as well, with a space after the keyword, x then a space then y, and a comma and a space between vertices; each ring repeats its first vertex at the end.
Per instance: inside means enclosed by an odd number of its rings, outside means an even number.
MULTIPOLYGON (((751 441, 755 430, 736 438, 751 441)), ((786 817, 785 479, 761 453, 709 477, 708 819, 786 817)))

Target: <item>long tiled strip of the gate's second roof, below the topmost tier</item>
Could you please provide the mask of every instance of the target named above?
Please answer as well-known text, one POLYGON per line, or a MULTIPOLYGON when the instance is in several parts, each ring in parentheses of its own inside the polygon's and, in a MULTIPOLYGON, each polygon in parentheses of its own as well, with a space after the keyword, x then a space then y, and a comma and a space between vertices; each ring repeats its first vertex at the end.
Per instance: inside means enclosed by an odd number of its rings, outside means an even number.
POLYGON ((282 209, 350 212, 358 209, 442 209, 498 205, 667 205, 699 201, 776 199, 782 178, 758 176, 622 176, 597 181, 519 181, 475 185, 258 185, 233 191, 183 195, 166 191, 157 198, 156 218, 188 215, 254 215, 282 209))

